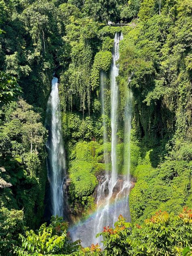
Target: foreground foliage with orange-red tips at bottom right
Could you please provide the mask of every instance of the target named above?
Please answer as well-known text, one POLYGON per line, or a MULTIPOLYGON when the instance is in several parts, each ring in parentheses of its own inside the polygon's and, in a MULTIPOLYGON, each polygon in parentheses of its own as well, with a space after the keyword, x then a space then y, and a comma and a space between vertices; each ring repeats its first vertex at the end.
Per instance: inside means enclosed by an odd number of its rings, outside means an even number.
MULTIPOLYGON (((132 226, 119 215, 115 228, 104 227, 104 255, 187 255, 191 243, 191 210, 184 208, 179 216, 158 211, 141 226, 132 226)), ((99 255, 99 254, 98 254, 99 255)))

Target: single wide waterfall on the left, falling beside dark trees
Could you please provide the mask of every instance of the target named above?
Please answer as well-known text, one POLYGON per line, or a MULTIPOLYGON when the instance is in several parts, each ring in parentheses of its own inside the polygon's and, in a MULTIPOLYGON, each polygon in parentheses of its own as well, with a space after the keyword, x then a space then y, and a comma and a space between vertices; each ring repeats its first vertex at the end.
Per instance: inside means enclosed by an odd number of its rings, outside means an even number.
POLYGON ((46 147, 48 152, 48 179, 51 187, 51 213, 53 215, 63 216, 63 183, 66 160, 62 138, 58 79, 56 77, 52 79, 51 94, 47 102, 46 126, 49 130, 49 139, 46 147))

